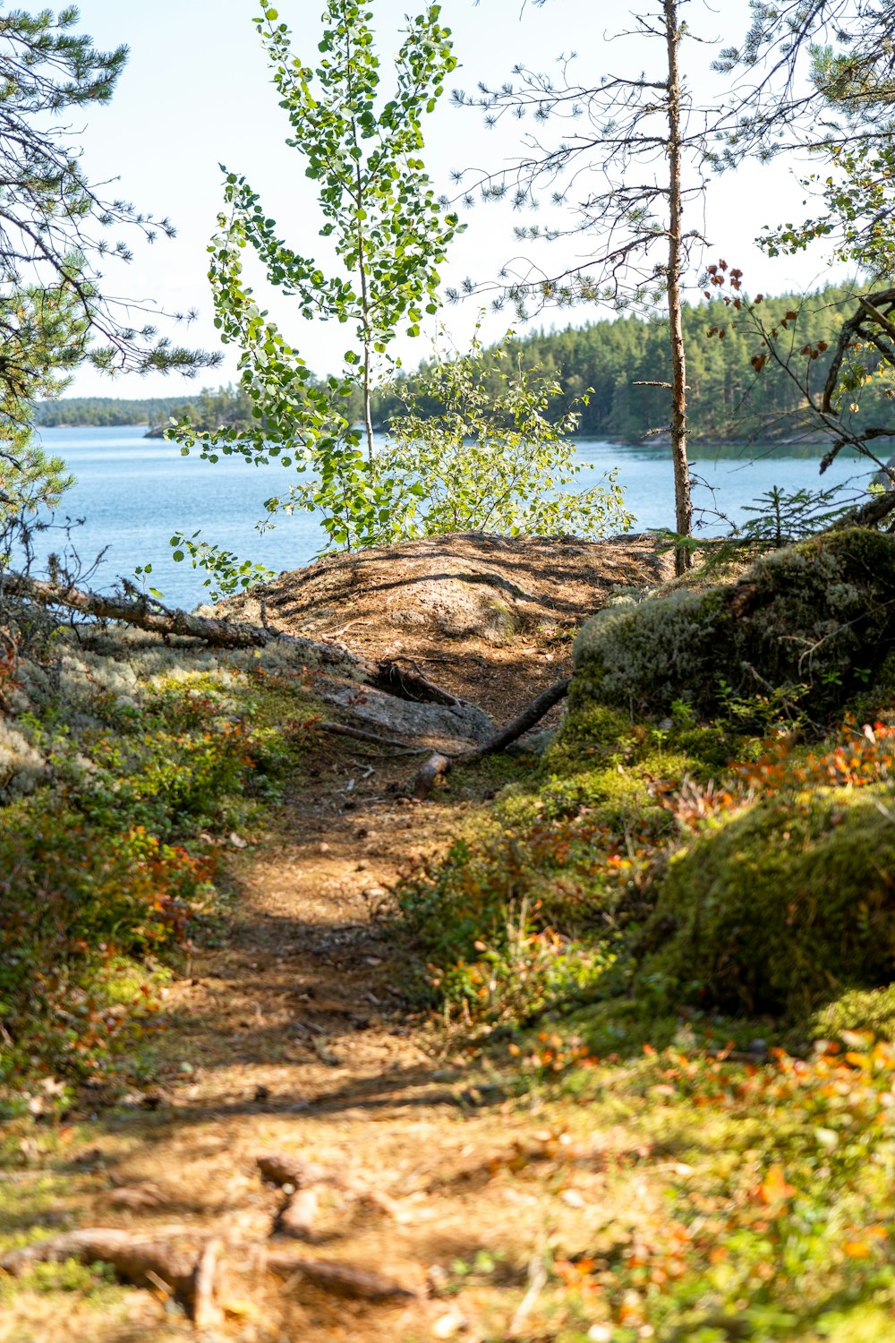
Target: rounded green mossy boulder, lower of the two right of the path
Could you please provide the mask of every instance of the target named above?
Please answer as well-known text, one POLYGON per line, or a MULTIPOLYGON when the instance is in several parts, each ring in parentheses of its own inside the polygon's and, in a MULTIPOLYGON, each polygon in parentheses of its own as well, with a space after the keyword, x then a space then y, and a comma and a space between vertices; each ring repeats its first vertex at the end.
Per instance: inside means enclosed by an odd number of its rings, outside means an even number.
POLYGON ((892 790, 759 802, 672 858, 637 984, 805 1018, 895 979, 892 790))

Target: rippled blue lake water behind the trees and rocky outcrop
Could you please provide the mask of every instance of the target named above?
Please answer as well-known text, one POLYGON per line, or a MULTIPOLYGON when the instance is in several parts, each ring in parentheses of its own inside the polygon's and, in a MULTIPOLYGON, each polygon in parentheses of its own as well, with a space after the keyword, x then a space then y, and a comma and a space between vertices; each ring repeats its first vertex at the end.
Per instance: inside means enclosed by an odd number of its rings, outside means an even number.
MULTIPOLYGON (((172 606, 191 608, 207 599, 204 575, 188 561, 172 560, 169 537, 201 529, 203 537, 240 557, 251 557, 270 569, 293 569, 310 560, 321 547, 321 532, 309 514, 280 517, 276 528, 259 535, 255 524, 264 517, 264 500, 284 493, 294 479, 279 465, 255 467, 242 458, 224 458, 212 465, 197 457, 181 457, 180 449, 144 438, 141 427, 129 428, 44 428, 40 438, 48 453, 64 458, 76 478, 66 494, 55 522, 66 517, 83 518, 71 533, 71 544, 85 564, 103 547, 91 586, 109 588, 117 576, 133 576, 138 564, 152 564, 152 586, 162 591, 172 606)), ((598 475, 619 467, 628 506, 637 530, 674 525, 671 453, 667 447, 644 447, 581 439, 578 453, 598 475)), ((743 505, 777 485, 785 490, 816 489, 820 447, 739 449, 695 445, 694 471, 713 488, 696 486, 694 505, 717 508, 733 520, 743 518, 743 505)), ((841 457, 823 477, 824 486, 852 479, 860 488, 870 477, 865 465, 841 457)), ((592 473, 581 473, 580 485, 593 483, 592 473)), ((726 530, 706 518, 706 535, 726 530)), ((63 551, 64 533, 51 530, 40 537, 40 553, 63 551)))

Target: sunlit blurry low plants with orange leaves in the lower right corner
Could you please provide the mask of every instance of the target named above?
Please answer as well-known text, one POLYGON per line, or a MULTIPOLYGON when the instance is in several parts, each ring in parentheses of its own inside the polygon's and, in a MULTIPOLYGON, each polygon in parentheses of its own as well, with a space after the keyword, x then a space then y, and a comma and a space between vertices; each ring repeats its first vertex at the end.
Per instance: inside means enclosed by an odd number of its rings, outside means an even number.
MULTIPOLYGON (((542 1033, 517 1066, 556 1125, 607 1144, 589 1225, 557 1236, 558 1343, 882 1343, 895 1313, 895 1049, 872 1033, 734 1061, 678 1029, 627 1064, 542 1033), (605 1211, 602 1215, 600 1205, 605 1211)), ((570 1182, 574 1175, 568 1176, 570 1182)))

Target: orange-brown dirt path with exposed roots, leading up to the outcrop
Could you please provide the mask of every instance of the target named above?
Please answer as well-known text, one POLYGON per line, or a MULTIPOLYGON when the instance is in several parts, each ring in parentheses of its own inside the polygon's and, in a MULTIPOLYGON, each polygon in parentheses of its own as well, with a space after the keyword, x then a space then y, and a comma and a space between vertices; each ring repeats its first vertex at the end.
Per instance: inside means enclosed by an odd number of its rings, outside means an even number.
MULTIPOLYGON (((330 760, 330 784, 342 768, 357 776, 346 753, 330 760)), ((227 944, 169 990, 165 1081, 63 1140, 66 1159, 51 1160, 62 1199, 44 1226, 150 1237, 173 1222, 188 1241, 220 1237, 227 1313, 209 1339, 529 1336, 510 1326, 533 1254, 541 1264, 550 1237, 581 1222, 605 1136, 573 1142, 569 1115, 509 1097, 463 1057, 439 1057, 408 1011, 376 909, 399 868, 444 842, 456 813, 399 804, 382 779, 350 798, 330 787, 313 806, 303 792, 291 800, 282 833, 236 860, 227 944), (284 1195, 262 1183, 262 1151, 325 1171, 303 1242, 270 1240, 284 1195), (145 1198, 152 1206, 138 1206, 145 1198), (283 1287, 263 1272, 264 1245, 374 1270, 413 1296, 352 1300, 301 1277, 283 1287)), ((584 1225, 572 1233, 582 1237, 584 1225)), ((119 1291, 114 1304, 75 1305, 25 1292, 0 1339, 195 1336, 161 1292, 119 1291)))

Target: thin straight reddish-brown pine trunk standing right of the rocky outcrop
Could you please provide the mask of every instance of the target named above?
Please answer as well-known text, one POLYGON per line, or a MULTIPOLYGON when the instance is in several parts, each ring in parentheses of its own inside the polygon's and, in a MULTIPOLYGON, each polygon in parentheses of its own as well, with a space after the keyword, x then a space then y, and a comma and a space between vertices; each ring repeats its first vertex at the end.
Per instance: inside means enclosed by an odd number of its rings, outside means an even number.
MULTIPOLYGON (((678 47, 678 0, 664 0, 666 40, 668 46, 668 334, 671 340, 671 455, 675 466, 675 529, 679 536, 692 533, 690 500, 690 466, 687 463, 687 361, 684 352, 680 277, 683 271, 683 195, 680 185, 680 73, 678 47)), ((679 545, 675 569, 683 573, 691 565, 690 552, 679 545)))

